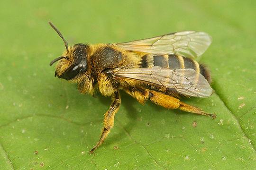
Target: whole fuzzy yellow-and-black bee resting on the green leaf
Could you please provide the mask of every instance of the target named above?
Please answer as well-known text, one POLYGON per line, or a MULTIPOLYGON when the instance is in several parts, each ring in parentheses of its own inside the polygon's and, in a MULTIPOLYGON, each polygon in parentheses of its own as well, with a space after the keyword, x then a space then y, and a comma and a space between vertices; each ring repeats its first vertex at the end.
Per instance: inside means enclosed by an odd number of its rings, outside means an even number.
POLYGON ((80 93, 94 94, 98 88, 112 103, 104 115, 100 139, 93 153, 109 135, 121 103, 120 90, 144 104, 151 100, 167 109, 180 109, 215 117, 180 101, 180 96, 210 97, 210 71, 194 58, 209 47, 210 35, 197 31, 180 31, 143 40, 123 43, 77 43, 68 46, 60 31, 66 51, 56 61, 55 76, 78 83, 80 93))

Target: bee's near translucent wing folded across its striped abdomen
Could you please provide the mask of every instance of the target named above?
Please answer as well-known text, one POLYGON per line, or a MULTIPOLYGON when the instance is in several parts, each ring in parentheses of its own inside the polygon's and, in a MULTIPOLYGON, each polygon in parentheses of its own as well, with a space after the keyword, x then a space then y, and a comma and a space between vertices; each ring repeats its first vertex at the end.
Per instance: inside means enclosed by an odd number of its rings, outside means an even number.
POLYGON ((213 93, 204 76, 192 68, 176 70, 158 66, 129 68, 115 72, 114 76, 165 87, 170 91, 193 97, 210 97, 213 93))

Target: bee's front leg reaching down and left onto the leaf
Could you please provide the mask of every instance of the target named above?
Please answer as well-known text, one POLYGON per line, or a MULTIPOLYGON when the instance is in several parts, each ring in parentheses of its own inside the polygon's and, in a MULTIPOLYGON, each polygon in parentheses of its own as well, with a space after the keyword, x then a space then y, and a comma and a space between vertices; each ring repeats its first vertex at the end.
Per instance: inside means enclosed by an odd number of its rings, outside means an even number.
POLYGON ((104 142, 104 140, 110 134, 111 128, 114 126, 115 113, 119 110, 121 103, 119 91, 112 95, 112 100, 113 102, 110 105, 110 110, 108 110, 104 115, 104 127, 101 130, 99 142, 97 142, 97 144, 91 149, 90 153, 93 153, 104 142))

